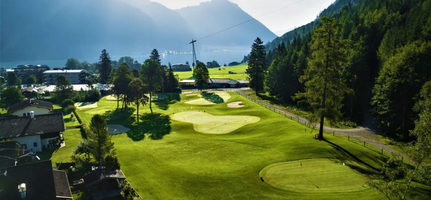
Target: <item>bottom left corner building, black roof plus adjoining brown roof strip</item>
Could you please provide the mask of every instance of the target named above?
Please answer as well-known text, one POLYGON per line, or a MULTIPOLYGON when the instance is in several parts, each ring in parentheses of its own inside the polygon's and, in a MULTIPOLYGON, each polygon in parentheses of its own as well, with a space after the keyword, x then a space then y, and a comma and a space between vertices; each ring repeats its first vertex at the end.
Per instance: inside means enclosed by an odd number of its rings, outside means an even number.
POLYGON ((66 172, 52 169, 51 160, 5 168, 0 175, 5 200, 72 200, 66 172))

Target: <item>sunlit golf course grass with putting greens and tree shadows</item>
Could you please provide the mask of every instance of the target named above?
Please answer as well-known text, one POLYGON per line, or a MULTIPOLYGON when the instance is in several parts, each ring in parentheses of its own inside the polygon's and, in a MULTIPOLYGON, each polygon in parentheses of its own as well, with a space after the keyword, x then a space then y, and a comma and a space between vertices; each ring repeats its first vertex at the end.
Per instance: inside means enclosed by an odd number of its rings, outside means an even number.
MULTIPOLYGON (((77 113, 89 124, 91 113, 107 110, 103 115, 108 124, 131 128, 112 135, 112 141, 127 180, 147 200, 386 199, 380 192, 362 187, 365 178, 376 177, 373 168, 381 169, 385 156, 329 134, 325 135, 328 142, 315 140, 315 131, 236 93, 228 94, 231 98, 226 102, 212 105, 185 103, 199 99, 197 95, 166 94, 167 98, 153 106, 154 115, 148 114, 148 106, 140 107, 139 127, 134 107, 120 112, 116 100, 106 97, 97 102, 97 108, 77 113), (234 101, 243 101, 244 107, 228 108, 227 103, 234 101), (175 113, 181 112, 190 112, 187 117, 191 119, 175 120, 175 113), (195 113, 199 115, 191 115, 195 113), (227 120, 239 124, 234 120, 242 116, 260 120, 226 134, 206 134, 195 127, 197 123, 214 127, 214 121, 227 120), (340 171, 342 162, 346 163, 344 172, 340 171), (300 163, 302 172, 298 171, 300 163)), ((81 134, 72 129, 64 137, 66 147, 44 153, 45 159, 70 160, 81 134)), ((431 188, 416 186, 420 199, 431 196, 431 188)))

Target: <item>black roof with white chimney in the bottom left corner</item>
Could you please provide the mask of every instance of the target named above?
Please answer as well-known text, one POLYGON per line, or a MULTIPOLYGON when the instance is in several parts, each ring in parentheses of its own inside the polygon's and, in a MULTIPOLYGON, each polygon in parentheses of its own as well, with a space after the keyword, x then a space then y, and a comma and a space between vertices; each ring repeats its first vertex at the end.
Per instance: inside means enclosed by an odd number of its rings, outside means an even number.
POLYGON ((18 185, 25 184, 25 200, 55 200, 56 189, 51 160, 13 166, 0 176, 0 197, 22 200, 18 185))

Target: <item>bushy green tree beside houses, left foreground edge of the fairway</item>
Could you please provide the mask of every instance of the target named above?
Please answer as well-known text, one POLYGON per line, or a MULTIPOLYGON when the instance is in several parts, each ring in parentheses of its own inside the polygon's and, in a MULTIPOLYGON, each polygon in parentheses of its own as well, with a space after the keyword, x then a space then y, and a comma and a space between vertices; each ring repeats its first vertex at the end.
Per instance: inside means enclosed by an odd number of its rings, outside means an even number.
POLYGON ((102 167, 102 159, 114 150, 114 143, 108 133, 106 120, 100 114, 95 114, 91 118, 90 130, 87 134, 88 147, 94 158, 99 161, 102 167))

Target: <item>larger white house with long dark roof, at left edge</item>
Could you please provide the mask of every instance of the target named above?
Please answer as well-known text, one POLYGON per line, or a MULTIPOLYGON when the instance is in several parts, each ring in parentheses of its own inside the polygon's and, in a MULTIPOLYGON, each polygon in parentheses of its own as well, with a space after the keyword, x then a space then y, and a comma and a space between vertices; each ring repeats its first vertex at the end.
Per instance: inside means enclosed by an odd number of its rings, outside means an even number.
POLYGON ((17 141, 26 150, 42 151, 42 147, 58 147, 60 133, 65 130, 63 114, 43 114, 0 119, 0 140, 17 141))

